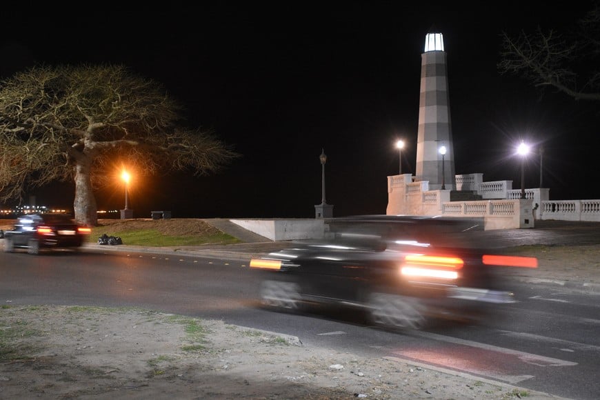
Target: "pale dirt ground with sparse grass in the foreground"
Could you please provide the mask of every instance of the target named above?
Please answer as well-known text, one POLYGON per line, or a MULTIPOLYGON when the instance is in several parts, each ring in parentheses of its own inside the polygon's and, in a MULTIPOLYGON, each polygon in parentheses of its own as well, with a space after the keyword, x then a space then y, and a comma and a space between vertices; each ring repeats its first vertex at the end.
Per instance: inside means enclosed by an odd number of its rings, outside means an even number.
POLYGON ((552 399, 148 310, 0 308, 1 399, 552 399))

